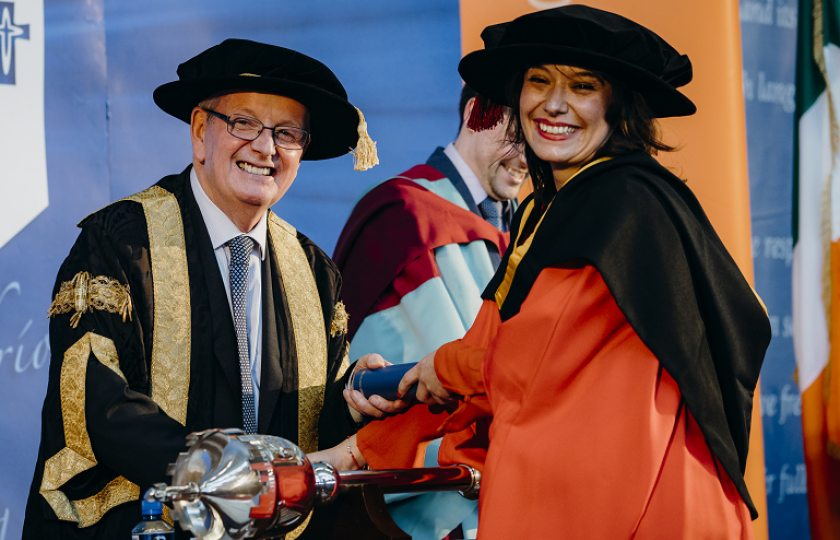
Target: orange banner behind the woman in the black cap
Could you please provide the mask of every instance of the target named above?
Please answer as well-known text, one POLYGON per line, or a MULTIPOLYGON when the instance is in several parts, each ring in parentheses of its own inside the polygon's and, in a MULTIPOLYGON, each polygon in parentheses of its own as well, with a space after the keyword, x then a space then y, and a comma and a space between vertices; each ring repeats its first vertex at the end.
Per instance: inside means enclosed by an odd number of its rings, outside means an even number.
MULTIPOLYGON (((483 48, 485 26, 519 15, 559 7, 568 0, 461 0, 463 54, 483 48)), ((668 0, 592 0, 586 5, 613 11, 651 28, 691 58, 694 80, 681 89, 697 105, 688 118, 661 121, 665 141, 675 153, 662 153, 671 168, 700 199, 703 208, 752 282, 747 138, 741 66, 741 28, 737 0, 679 2, 668 0)), ((755 537, 766 539, 767 497, 759 392, 753 407, 753 430, 747 462, 747 485, 759 512, 755 537)))

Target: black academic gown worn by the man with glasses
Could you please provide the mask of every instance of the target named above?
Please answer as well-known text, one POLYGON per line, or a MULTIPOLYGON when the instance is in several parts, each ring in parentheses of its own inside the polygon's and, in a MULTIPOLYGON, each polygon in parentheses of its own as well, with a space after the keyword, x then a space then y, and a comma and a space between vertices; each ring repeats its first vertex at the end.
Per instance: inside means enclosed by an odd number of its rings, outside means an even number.
MULTIPOLYGON (((76 328, 71 326, 73 311, 55 315, 50 322, 52 357, 42 412, 41 445, 26 508, 25 539, 128 538, 131 528, 140 521, 140 504, 136 499, 125 499, 138 493, 142 496, 153 483, 169 480, 166 467, 186 449, 188 433, 242 427, 234 326, 210 237, 190 187, 189 168, 180 175, 163 178, 157 185, 174 195, 180 210, 188 294, 177 296, 177 287, 167 287, 160 281, 158 289, 153 286, 149 227, 141 204, 119 201, 85 219, 79 238, 58 272, 53 295, 62 283, 73 280, 79 272, 88 272, 127 287, 133 309, 131 319, 125 321, 119 313, 94 308, 82 314, 76 328), (184 425, 164 413, 149 397, 152 350, 173 338, 163 330, 155 335, 155 306, 161 301, 188 302, 190 307, 189 390, 184 425), (84 349, 81 364, 77 362, 82 368, 64 370, 62 385, 62 366, 65 362, 71 365, 73 351, 85 339, 92 345, 84 349), (111 353, 106 351, 109 341, 113 343, 111 353), (114 357, 118 358, 118 365, 107 365, 107 358, 114 357), (67 390, 73 380, 75 392, 67 390), (79 408, 83 409, 81 415, 79 408), (66 411, 75 411, 73 418, 84 421, 81 425, 66 425, 63 412, 71 417, 66 411), (80 461, 78 452, 67 450, 78 447, 78 440, 83 441, 85 433, 95 455, 93 466, 79 465, 84 461, 80 461), (45 482, 47 460, 52 460, 47 469, 53 472, 45 482), (58 468, 57 460, 63 460, 58 468), (54 471, 59 469, 65 472, 56 479, 54 471), (111 488, 106 489, 108 486, 111 488), (43 492, 48 492, 53 504, 48 504, 43 492), (127 492, 131 493, 126 495, 127 492), (86 502, 77 505, 81 510, 73 514, 62 497, 86 502), (63 509, 63 519, 57 519, 55 508, 63 509), (86 520, 84 527, 78 526, 80 514, 86 520), (95 522, 91 524, 91 520, 95 522)), ((167 222, 164 230, 172 231, 174 227, 177 225, 167 222)), ((337 330, 333 325, 341 278, 330 258, 314 243, 300 233, 297 240, 315 278, 326 330, 323 339, 327 342, 327 373, 322 374, 326 389, 318 422, 318 446, 328 448, 355 431, 341 396, 345 382, 341 375, 348 367, 346 362, 342 364, 347 346, 345 333, 341 325, 337 330)), ((268 244, 262 265, 263 357, 258 429, 262 434, 298 442, 295 333, 282 276, 275 264, 275 248, 271 241, 268 244)), ((157 359, 175 363, 184 360, 157 359)), ((189 537, 178 527, 176 530, 178 537, 189 537)))

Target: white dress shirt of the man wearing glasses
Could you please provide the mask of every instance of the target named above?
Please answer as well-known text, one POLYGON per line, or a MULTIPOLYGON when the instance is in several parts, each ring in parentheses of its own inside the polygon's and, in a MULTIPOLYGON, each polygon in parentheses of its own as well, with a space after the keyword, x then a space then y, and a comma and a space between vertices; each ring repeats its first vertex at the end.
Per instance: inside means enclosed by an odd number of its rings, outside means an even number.
POLYGON ((192 186, 195 202, 201 211, 201 217, 210 234, 210 243, 219 264, 219 272, 225 284, 228 305, 233 317, 233 301, 230 297, 230 248, 225 244, 240 235, 245 235, 254 241, 254 249, 248 261, 248 290, 245 293, 245 319, 248 330, 248 354, 251 363, 251 384, 254 387, 254 414, 259 420, 260 405, 260 372, 262 368, 262 265, 265 259, 266 241, 268 239, 268 214, 263 214, 257 225, 248 233, 242 233, 224 212, 210 200, 195 169, 190 170, 190 185, 192 186))

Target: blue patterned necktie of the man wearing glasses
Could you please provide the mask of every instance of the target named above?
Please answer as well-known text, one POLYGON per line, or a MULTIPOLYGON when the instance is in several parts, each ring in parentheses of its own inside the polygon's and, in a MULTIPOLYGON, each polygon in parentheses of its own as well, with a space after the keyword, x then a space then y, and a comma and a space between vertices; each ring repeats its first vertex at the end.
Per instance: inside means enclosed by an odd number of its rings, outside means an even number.
POLYGON ((254 413, 254 387, 251 384, 251 361, 248 348, 248 323, 245 318, 245 292, 248 290, 248 259, 254 241, 247 236, 237 236, 228 241, 230 248, 230 298, 233 303, 233 326, 236 328, 236 345, 239 349, 239 376, 242 380, 242 425, 246 433, 257 432, 254 413))

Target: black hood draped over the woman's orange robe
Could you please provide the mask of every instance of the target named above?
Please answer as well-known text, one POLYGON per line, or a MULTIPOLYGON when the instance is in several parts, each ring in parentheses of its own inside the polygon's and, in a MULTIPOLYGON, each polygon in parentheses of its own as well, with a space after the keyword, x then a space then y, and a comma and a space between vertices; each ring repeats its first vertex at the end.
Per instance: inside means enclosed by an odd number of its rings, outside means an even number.
MULTIPOLYGON (((520 211, 515 231, 521 219, 520 211)), ((485 299, 495 297, 511 249, 485 299)), ((519 313, 543 268, 581 260, 601 273, 633 329, 676 380, 755 518, 743 474, 770 323, 694 194, 644 153, 583 171, 547 210, 501 307, 502 320, 519 313)))

